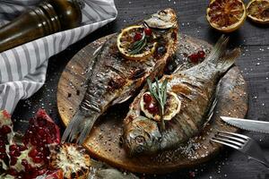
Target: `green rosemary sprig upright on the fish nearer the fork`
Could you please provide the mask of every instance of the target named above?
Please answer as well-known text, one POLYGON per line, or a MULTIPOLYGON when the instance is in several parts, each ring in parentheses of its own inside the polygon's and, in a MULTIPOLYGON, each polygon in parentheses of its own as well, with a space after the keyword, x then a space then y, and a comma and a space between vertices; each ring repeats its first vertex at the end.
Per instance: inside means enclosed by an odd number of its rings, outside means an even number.
POLYGON ((159 109, 161 111, 161 130, 164 131, 165 130, 165 124, 164 124, 164 120, 163 120, 163 115, 164 115, 164 107, 167 101, 167 83, 168 80, 165 79, 161 86, 159 84, 158 78, 155 78, 156 81, 156 86, 152 86, 152 81, 150 81, 149 79, 147 79, 147 83, 149 85, 149 90, 151 95, 158 101, 158 106, 159 109))

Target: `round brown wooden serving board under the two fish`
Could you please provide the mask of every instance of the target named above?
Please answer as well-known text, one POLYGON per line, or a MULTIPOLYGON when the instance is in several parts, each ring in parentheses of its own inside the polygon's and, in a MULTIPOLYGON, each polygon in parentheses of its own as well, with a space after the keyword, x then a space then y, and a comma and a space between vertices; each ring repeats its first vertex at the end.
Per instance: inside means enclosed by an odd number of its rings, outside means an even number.
MULTIPOLYGON (((63 123, 68 124, 82 101, 85 89, 82 84, 85 70, 94 51, 108 37, 100 38, 87 47, 82 48, 65 67, 57 90, 57 107, 63 123)), ((200 48, 211 48, 208 43, 181 35, 179 40, 178 58, 189 51, 200 48)), ((169 173, 180 168, 195 166, 213 158, 221 149, 221 145, 210 142, 217 130, 238 132, 228 124, 224 124, 220 115, 244 117, 247 114, 247 85, 238 67, 233 67, 221 80, 221 91, 218 93, 218 105, 210 124, 201 133, 190 139, 178 149, 162 151, 154 156, 129 158, 125 149, 120 145, 122 135, 122 120, 124 119, 131 100, 124 104, 110 107, 108 112, 91 131, 90 137, 84 142, 91 157, 107 162, 111 166, 124 168, 131 172, 161 174, 169 173)))

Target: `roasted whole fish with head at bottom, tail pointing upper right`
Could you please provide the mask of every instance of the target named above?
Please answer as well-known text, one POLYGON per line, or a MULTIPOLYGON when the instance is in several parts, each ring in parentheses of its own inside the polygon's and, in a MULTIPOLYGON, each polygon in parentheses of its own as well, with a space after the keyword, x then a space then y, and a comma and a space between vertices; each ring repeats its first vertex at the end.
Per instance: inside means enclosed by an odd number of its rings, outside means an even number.
MULTIPOLYGON (((144 104, 141 101, 145 100, 143 97, 147 89, 144 88, 134 98, 124 119, 124 146, 131 156, 178 147, 203 128, 206 122, 204 116, 211 107, 217 83, 240 54, 239 49, 226 53, 227 42, 228 38, 221 37, 203 63, 161 78, 160 83, 164 83, 166 79, 168 93, 175 94, 176 97, 173 98, 178 98, 180 104, 179 109, 173 109, 178 110, 177 114, 165 121, 163 131, 161 122, 149 118, 143 112, 144 104)), ((171 104, 173 103, 169 101, 167 110, 173 107, 171 104)))

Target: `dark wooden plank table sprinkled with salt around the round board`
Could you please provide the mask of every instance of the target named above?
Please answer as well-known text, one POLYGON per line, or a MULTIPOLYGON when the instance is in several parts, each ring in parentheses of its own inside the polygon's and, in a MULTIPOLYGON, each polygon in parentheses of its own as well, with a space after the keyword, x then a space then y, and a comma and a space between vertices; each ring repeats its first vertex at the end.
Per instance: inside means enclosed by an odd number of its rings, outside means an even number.
MULTIPOLYGON (((21 101, 13 113, 13 117, 17 119, 15 129, 25 130, 27 119, 32 117, 39 107, 43 107, 62 127, 63 132, 63 125, 60 124, 56 108, 56 89, 65 65, 74 54, 94 39, 117 32, 126 25, 143 19, 145 15, 172 7, 178 13, 182 33, 210 43, 214 43, 221 36, 219 32, 212 30, 205 20, 205 9, 209 0, 115 0, 115 3, 118 10, 116 21, 91 33, 64 52, 49 59, 46 84, 33 97, 21 101)), ((237 64, 247 81, 249 91, 247 118, 269 121, 269 27, 257 26, 255 23, 246 21, 240 30, 230 34, 230 39, 230 47, 242 48, 242 55, 237 64)), ((269 134, 243 133, 258 141, 269 159, 269 134)), ((218 157, 204 165, 187 168, 173 174, 145 175, 144 177, 264 179, 269 178, 269 170, 247 159, 238 151, 225 148, 218 157)))

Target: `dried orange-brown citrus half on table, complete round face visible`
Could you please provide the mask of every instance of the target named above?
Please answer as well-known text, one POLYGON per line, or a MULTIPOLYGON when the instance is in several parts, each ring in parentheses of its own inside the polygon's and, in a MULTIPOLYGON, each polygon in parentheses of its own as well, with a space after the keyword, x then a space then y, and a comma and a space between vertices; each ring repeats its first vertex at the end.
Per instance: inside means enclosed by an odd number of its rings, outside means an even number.
POLYGON ((213 0, 206 9, 210 25, 225 33, 238 30, 246 17, 246 7, 241 0, 213 0))

